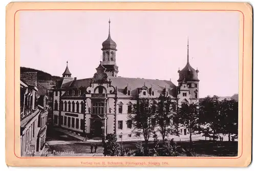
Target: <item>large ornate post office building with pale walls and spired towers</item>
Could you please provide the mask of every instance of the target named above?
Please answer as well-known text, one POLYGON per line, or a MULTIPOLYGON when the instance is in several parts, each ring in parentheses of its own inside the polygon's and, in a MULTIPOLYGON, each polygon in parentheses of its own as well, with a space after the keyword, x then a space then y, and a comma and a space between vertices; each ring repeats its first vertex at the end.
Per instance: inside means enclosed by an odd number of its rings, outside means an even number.
MULTIPOLYGON (((131 124, 126 121, 138 99, 164 95, 178 104, 198 102, 199 71, 189 64, 188 45, 186 66, 178 70, 178 86, 170 80, 118 76, 116 47, 109 28, 108 38, 102 43, 102 61, 92 78, 72 78, 67 62, 62 79, 53 90, 54 125, 80 135, 101 137, 113 133, 118 138, 137 139, 138 135, 132 133, 131 124)), ((187 134, 183 128, 180 132, 187 134)))

